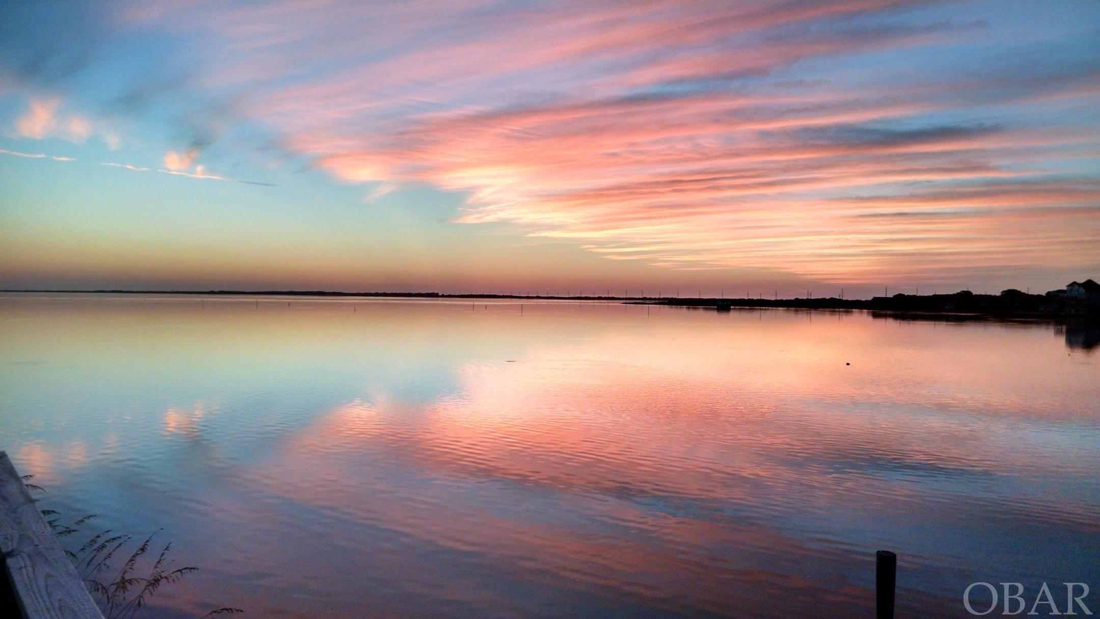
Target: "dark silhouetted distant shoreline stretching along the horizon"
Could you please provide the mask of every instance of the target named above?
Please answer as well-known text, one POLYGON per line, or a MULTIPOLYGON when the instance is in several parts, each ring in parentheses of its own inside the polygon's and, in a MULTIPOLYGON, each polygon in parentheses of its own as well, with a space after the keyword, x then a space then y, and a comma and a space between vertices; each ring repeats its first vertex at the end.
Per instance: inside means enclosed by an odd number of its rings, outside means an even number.
POLYGON ((662 305, 695 309, 809 309, 809 310, 869 310, 890 313, 931 317, 1012 318, 1032 320, 1096 319, 1100 311, 1094 303, 1076 303, 1049 295, 1027 295, 1012 291, 1001 295, 976 295, 966 290, 950 295, 894 295, 871 299, 794 298, 751 299, 715 297, 618 297, 618 296, 562 296, 562 295, 492 295, 446 292, 341 292, 332 290, 0 290, 24 294, 81 294, 81 295, 189 295, 189 296, 250 296, 250 297, 336 297, 336 298, 425 298, 425 299, 519 299, 566 301, 617 301, 629 305, 662 305))

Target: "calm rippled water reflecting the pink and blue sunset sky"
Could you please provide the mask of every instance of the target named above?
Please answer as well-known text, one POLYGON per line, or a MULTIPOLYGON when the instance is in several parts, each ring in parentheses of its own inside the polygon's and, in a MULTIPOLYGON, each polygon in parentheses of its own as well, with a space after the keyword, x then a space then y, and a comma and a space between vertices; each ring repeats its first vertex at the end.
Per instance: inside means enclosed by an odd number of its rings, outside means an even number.
POLYGON ((163 617, 869 617, 878 549, 901 556, 900 616, 956 617, 974 581, 1096 584, 1094 341, 864 313, 7 295, 0 449, 48 507, 163 528, 202 567, 163 617))

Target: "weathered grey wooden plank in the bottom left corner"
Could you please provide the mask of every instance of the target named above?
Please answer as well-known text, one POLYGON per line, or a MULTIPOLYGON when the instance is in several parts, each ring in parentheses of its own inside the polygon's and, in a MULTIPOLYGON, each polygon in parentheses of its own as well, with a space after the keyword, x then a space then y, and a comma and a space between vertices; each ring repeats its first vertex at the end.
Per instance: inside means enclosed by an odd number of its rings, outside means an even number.
POLYGON ((25 619, 103 619, 4 452, 0 452, 0 551, 25 619))

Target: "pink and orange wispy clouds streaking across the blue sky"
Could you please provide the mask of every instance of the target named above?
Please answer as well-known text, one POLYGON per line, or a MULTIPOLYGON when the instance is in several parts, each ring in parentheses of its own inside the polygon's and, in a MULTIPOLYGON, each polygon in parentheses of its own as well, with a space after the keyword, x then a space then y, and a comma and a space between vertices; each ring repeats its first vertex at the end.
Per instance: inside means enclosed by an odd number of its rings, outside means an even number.
MULTIPOLYGON (((111 26, 186 60, 199 102, 162 101, 165 174, 243 183, 198 162, 248 128, 372 184, 364 201, 461 191, 458 222, 615 261, 842 283, 1100 267, 1094 9, 956 4, 162 0, 111 26)), ((155 107, 166 75, 114 107, 155 107)), ((59 113, 42 100, 21 131, 59 113)))

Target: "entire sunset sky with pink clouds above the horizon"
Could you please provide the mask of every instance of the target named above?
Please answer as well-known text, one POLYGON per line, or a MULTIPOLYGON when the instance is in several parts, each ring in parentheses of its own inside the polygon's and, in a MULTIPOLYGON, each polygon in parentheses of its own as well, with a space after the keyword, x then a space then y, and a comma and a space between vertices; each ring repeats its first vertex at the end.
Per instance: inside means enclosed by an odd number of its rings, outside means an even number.
POLYGON ((0 3, 0 287, 1100 276, 1100 2, 0 3))

